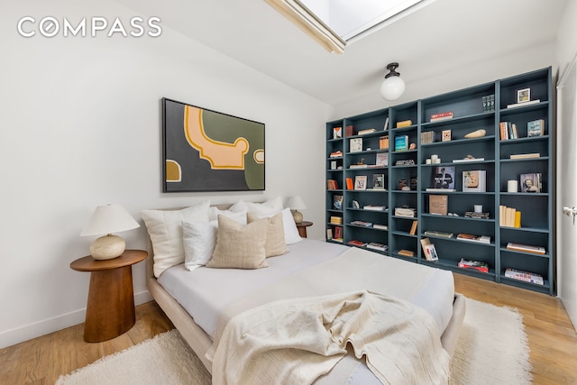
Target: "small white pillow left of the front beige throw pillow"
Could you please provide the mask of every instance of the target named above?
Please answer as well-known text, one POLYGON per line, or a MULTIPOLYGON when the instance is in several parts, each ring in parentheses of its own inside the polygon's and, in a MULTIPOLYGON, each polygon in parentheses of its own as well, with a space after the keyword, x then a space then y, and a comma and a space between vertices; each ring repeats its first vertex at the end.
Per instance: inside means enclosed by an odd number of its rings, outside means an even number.
POLYGON ((183 222, 184 267, 195 270, 205 266, 215 252, 218 222, 183 222))

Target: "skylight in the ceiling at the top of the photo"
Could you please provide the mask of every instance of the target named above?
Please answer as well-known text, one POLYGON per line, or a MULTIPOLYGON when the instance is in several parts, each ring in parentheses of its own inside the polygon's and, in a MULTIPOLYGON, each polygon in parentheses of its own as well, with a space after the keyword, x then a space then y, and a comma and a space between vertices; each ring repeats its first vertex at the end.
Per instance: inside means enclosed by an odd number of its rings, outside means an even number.
POLYGON ((325 49, 343 53, 353 38, 435 0, 265 0, 325 49), (418 6, 416 6, 418 5, 418 6))

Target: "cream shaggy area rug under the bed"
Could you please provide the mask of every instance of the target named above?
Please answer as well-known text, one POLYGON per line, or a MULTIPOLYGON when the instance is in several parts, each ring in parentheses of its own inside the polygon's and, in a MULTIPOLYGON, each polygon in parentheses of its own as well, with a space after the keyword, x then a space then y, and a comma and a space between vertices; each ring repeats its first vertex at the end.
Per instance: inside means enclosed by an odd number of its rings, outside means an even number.
MULTIPOLYGON (((531 383, 527 335, 517 309, 470 298, 453 356, 451 385, 531 383)), ((60 376, 57 385, 209 385, 210 374, 172 330, 85 368, 60 376)))

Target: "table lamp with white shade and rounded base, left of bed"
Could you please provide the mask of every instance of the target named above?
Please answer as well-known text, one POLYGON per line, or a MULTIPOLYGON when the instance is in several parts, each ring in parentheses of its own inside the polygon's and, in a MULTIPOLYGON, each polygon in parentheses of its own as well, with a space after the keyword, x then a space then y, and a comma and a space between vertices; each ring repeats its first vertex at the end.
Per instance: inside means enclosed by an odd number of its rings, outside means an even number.
POLYGON ((95 260, 112 260, 119 257, 126 244, 124 239, 112 233, 132 230, 141 225, 120 205, 97 206, 80 236, 102 235, 90 245, 90 255, 95 260))

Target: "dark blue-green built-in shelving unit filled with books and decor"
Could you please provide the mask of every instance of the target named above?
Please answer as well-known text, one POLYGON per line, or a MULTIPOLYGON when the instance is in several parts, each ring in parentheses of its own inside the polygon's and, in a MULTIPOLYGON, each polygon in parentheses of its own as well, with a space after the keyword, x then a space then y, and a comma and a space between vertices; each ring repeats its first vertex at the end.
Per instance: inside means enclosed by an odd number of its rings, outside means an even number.
POLYGON ((334 189, 327 182, 327 242, 351 245, 358 241, 361 246, 357 247, 381 243, 386 248, 380 252, 387 256, 554 295, 551 68, 329 122, 326 138, 327 180, 336 181, 334 189), (492 103, 487 96, 492 96, 492 103), (527 103, 522 101, 524 97, 527 103), (433 116, 448 112, 452 116, 431 122, 433 116), (527 136, 527 125, 537 120, 544 124, 543 133, 527 136), (508 122, 511 130, 515 124, 517 134, 510 135, 515 138, 502 137, 503 122, 508 122), (484 133, 471 135, 479 130, 484 133), (382 148, 384 138, 388 148, 382 148), (399 148, 401 142, 406 142, 406 147, 399 148), (515 159, 519 154, 533 155, 515 159), (377 165, 377 156, 381 161, 386 156, 387 164, 377 165), (473 159, 463 161, 467 157, 473 159), (435 158, 439 160, 432 160, 435 158), (453 168, 453 188, 431 191, 442 168, 453 168), (471 191, 475 181, 463 179, 463 175, 479 175, 468 171, 484 173, 481 191, 471 191), (522 192, 522 178, 527 176, 536 178, 532 180, 540 184, 540 191, 522 192), (347 188, 347 179, 352 188, 347 188), (364 185, 361 180, 355 186, 359 179, 366 179, 364 185), (380 188, 380 180, 384 188, 380 188), (512 180, 517 181, 518 191, 509 191, 512 180), (378 188, 373 188, 373 181, 378 188), (446 199, 450 215, 431 213, 430 201, 439 196, 446 199), (475 205, 482 206, 484 217, 465 216, 475 205), (520 225, 504 223, 506 212, 501 206, 520 212, 520 225), (415 214, 410 217, 396 208, 412 209, 415 214), (332 222, 332 217, 340 218, 340 223, 332 222), (431 235, 431 231, 445 235, 431 235), (457 234, 463 233, 488 236, 490 243, 457 239, 457 234), (335 234, 342 239, 335 239, 335 234), (426 238, 435 245, 437 261, 426 259, 421 245, 426 238), (508 243, 539 246, 545 253, 511 250, 508 243), (489 271, 458 267, 462 258, 484 262, 489 271), (508 278, 508 268, 540 275, 544 283, 508 278))

